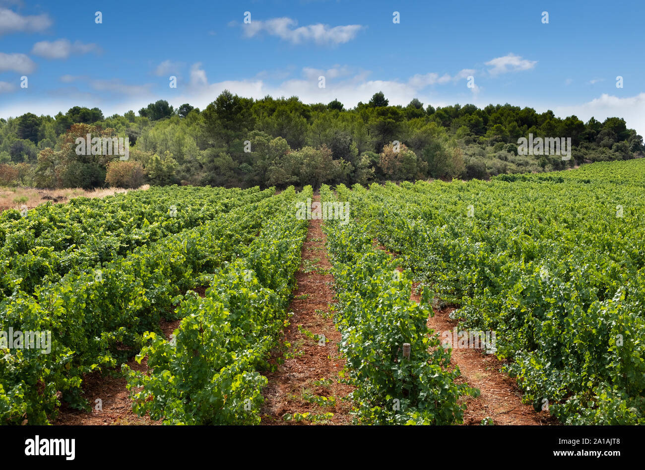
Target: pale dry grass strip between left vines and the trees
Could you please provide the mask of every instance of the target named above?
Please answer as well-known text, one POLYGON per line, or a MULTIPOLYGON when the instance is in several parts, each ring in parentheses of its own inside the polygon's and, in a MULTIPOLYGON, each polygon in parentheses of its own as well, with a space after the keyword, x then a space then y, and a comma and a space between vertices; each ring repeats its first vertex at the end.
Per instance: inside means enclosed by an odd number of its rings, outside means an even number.
MULTIPOLYGON (((150 185, 143 185, 136 190, 146 190, 150 185)), ((8 188, 0 187, 0 210, 15 208, 20 209, 22 205, 26 205, 32 209, 39 204, 52 201, 53 203, 65 203, 70 199, 80 198, 104 198, 105 196, 112 196, 119 192, 128 192, 132 189, 123 188, 106 188, 95 190, 84 190, 81 188, 68 188, 68 189, 37 189, 37 188, 8 188)))

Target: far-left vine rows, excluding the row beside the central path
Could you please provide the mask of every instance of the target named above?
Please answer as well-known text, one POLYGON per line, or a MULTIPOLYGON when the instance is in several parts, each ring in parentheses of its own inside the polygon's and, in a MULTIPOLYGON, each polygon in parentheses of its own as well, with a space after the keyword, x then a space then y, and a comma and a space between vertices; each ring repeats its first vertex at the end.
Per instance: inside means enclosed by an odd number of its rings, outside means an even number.
MULTIPOLYGON (((290 289, 284 270, 299 264, 299 249, 297 260, 282 263, 271 252, 248 251, 248 245, 258 230, 270 230, 276 207, 295 198, 293 189, 272 197, 273 190, 257 189, 148 191, 39 206, 27 217, 15 210, 0 216, 2 249, 14 254, 0 258, 9 264, 3 270, 8 296, 0 303, 0 331, 50 331, 52 336, 49 354, 2 351, 0 422, 46 424, 60 404, 59 391, 70 406, 85 406, 83 374, 137 353, 144 332, 159 331, 161 316, 171 315, 181 292, 235 258, 247 258, 268 289, 290 289), (176 216, 168 214, 169 201, 176 204, 176 216), (77 246, 75 238, 88 243, 77 246), (273 264, 280 266, 277 272, 270 271, 273 264)), ((290 242, 273 249, 284 250, 290 242)))

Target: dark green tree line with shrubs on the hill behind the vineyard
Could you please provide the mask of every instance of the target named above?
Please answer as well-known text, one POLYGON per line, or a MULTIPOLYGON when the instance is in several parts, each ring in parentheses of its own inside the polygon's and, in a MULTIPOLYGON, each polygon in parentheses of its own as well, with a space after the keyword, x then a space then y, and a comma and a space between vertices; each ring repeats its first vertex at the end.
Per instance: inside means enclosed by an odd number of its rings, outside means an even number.
POLYGON ((390 106, 382 92, 346 109, 334 100, 251 99, 224 90, 204 110, 159 100, 135 114, 99 108, 0 119, 0 184, 44 188, 188 184, 261 187, 486 179, 643 156, 622 118, 557 118, 505 105, 390 106), (138 116, 137 116, 138 114, 138 116), (128 137, 130 158, 75 152, 75 139, 128 137), (571 138, 569 161, 521 155, 517 140, 571 138))

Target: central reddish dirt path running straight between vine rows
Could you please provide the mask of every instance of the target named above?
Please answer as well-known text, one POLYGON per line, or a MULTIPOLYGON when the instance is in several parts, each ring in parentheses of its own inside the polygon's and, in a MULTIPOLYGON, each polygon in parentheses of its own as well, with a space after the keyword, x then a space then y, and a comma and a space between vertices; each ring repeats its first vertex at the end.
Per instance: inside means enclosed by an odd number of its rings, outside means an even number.
MULTIPOLYGON (((320 196, 313 197, 313 201, 319 200, 320 196)), ((270 362, 276 370, 266 374, 269 383, 263 391, 262 424, 352 423, 352 404, 346 396, 353 388, 339 382, 345 362, 338 352, 341 334, 330 313, 333 276, 328 274, 331 265, 321 225, 321 220, 309 221, 301 269, 295 274, 297 290, 290 305, 293 316, 281 346, 272 353, 270 362), (324 335, 324 345, 320 335, 324 335), (284 363, 279 364, 281 358, 284 363), (295 413, 309 414, 300 420, 285 419, 295 413)))

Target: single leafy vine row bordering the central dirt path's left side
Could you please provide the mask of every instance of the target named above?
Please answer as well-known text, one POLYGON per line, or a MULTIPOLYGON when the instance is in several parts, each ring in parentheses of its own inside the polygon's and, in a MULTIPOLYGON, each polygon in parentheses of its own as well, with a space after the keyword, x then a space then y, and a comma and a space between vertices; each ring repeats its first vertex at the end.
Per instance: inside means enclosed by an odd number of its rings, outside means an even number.
POLYGON ((287 318, 307 225, 293 207, 312 189, 288 194, 273 199, 270 221, 240 258, 215 272, 206 297, 179 305, 174 345, 144 335, 148 345, 137 360, 147 356, 152 371, 123 366, 137 413, 164 424, 259 424, 267 380, 256 369, 266 366, 287 318))

